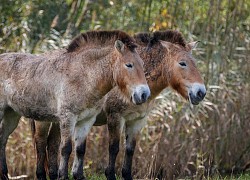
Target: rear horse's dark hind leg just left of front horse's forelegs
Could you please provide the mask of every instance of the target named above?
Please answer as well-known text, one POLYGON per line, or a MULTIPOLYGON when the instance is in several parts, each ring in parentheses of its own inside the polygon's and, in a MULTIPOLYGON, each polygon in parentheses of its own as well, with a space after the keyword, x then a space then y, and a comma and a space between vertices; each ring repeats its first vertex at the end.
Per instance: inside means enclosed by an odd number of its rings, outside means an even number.
POLYGON ((48 136, 48 166, 49 178, 51 180, 57 179, 58 172, 58 152, 60 146, 60 126, 59 123, 51 123, 52 126, 48 136))

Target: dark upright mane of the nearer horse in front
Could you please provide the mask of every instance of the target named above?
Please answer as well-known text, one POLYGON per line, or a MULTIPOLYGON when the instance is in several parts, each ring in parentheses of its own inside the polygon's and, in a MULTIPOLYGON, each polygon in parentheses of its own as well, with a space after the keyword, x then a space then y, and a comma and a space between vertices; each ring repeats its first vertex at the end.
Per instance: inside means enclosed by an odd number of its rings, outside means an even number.
POLYGON ((110 45, 116 40, 122 41, 131 51, 137 46, 135 40, 120 30, 113 31, 87 31, 76 36, 67 47, 67 52, 74 52, 88 43, 95 45, 110 45))

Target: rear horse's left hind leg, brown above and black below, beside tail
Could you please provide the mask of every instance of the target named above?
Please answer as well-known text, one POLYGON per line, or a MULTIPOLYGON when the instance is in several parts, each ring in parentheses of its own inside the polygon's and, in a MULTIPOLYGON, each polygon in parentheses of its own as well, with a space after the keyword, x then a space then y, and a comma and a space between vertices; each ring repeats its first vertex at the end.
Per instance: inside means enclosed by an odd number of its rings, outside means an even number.
POLYGON ((38 180, 46 180, 45 161, 46 146, 50 122, 35 121, 34 143, 37 156, 36 177, 38 180))

